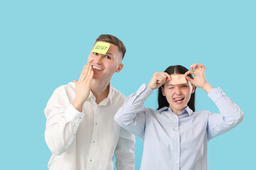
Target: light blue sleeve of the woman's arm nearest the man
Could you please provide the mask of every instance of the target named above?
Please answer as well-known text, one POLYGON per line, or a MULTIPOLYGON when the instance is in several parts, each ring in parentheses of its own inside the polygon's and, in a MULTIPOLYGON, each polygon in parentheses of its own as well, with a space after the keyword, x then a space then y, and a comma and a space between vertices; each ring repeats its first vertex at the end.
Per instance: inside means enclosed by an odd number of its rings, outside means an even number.
POLYGON ((142 84, 135 94, 127 97, 124 105, 114 115, 114 120, 122 128, 141 137, 142 140, 144 140, 146 122, 143 104, 152 92, 153 90, 149 86, 142 84))

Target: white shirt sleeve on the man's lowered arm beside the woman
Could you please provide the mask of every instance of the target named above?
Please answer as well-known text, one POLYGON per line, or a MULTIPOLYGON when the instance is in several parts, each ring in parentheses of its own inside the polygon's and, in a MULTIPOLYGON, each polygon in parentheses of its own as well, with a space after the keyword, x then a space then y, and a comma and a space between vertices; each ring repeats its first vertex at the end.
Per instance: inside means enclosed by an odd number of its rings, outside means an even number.
POLYGON ((134 145, 135 136, 131 132, 128 132, 127 130, 124 130, 124 128, 121 128, 117 147, 114 151, 117 170, 135 169, 134 145))

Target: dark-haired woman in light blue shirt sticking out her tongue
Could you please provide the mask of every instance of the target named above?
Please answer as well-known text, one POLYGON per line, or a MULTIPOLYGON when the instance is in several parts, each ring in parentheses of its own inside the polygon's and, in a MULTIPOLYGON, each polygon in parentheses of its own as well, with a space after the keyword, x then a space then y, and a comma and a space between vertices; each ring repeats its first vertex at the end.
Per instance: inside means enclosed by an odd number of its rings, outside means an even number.
POLYGON ((207 143, 238 125, 243 119, 240 108, 223 91, 206 81, 203 64, 181 65, 156 72, 148 86, 127 97, 114 120, 144 140, 141 170, 208 169, 207 143), (194 78, 192 75, 194 75, 194 78), (174 78, 185 82, 174 84, 174 78), (195 111, 196 87, 206 91, 220 114, 195 111), (154 89, 159 88, 159 110, 143 108, 154 89))

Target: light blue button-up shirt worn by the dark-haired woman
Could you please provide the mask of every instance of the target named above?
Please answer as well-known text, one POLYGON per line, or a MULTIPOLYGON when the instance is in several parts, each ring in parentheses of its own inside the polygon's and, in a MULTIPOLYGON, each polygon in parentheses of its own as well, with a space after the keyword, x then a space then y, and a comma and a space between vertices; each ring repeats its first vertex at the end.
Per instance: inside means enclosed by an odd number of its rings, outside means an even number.
POLYGON ((220 88, 208 93, 220 114, 193 112, 188 107, 179 115, 168 107, 158 111, 143 108, 151 94, 152 89, 142 84, 114 116, 122 128, 144 140, 141 170, 208 169, 208 141, 243 119, 240 108, 220 88))

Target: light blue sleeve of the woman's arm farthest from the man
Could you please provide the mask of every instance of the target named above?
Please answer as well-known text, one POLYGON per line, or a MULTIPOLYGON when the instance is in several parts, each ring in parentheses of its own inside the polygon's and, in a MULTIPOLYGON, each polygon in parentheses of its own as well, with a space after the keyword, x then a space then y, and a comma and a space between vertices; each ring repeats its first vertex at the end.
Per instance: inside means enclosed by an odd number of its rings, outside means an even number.
POLYGON ((208 140, 231 130, 238 125, 244 118, 244 114, 224 92, 218 89, 212 89, 208 96, 218 107, 220 114, 209 113, 208 117, 208 140))

